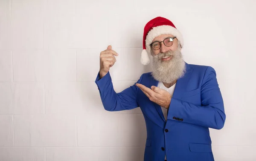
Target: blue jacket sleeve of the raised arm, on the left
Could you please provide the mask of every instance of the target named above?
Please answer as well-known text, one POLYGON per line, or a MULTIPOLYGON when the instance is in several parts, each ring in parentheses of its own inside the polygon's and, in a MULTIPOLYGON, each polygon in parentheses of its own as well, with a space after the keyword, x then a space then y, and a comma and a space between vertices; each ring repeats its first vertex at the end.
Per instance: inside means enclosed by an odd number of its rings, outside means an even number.
MULTIPOLYGON (((140 83, 143 75, 137 83, 140 83)), ((99 73, 95 80, 99 89, 102 104, 107 111, 122 111, 126 109, 134 109, 139 107, 137 103, 138 87, 134 85, 124 89, 122 92, 116 93, 113 89, 112 79, 108 72, 103 78, 99 79, 99 73)))

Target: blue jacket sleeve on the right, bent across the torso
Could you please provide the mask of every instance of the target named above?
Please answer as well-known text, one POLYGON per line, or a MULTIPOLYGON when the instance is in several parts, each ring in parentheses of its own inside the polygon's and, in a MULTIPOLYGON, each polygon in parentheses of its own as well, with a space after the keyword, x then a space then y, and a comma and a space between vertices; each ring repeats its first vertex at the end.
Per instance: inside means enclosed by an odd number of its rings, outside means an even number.
MULTIPOLYGON (((180 118, 179 121, 222 129, 226 120, 224 103, 218 87, 215 70, 208 66, 201 86, 201 106, 171 99, 168 119, 180 118)), ((176 121, 176 120, 175 120, 176 121)))

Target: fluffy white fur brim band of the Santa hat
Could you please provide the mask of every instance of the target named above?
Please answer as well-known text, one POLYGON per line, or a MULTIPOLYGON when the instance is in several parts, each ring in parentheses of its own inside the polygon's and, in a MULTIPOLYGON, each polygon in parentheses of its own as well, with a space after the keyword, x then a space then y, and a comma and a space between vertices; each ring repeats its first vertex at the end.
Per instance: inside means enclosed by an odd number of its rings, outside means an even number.
POLYGON ((153 29, 151 29, 148 32, 148 35, 146 37, 146 50, 148 53, 151 53, 150 44, 152 43, 152 40, 154 40, 155 37, 159 35, 164 35, 164 34, 170 34, 170 35, 176 36, 177 40, 180 41, 180 45, 183 46, 184 42, 183 42, 183 37, 181 33, 172 26, 162 25, 162 26, 153 27, 153 29))

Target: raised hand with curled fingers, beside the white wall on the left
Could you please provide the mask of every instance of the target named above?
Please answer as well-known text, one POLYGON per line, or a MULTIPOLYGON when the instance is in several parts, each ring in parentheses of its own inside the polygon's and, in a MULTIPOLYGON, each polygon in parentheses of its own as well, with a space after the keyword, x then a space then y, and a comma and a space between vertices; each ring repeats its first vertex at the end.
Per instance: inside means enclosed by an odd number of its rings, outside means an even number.
POLYGON ((108 48, 100 53, 100 68, 99 68, 99 78, 101 79, 104 77, 110 67, 114 65, 116 62, 115 56, 118 56, 118 54, 112 50, 112 46, 109 45, 108 48))

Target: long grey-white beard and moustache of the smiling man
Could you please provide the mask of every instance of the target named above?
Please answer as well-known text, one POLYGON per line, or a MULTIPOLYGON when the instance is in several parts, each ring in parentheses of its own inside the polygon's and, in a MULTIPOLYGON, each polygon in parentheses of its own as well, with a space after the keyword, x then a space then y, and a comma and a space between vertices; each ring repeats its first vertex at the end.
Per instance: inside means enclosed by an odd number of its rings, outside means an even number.
MULTIPOLYGON (((153 55, 153 54, 152 54, 153 55)), ((186 64, 180 52, 180 48, 176 51, 168 51, 153 55, 153 71, 152 76, 155 80, 163 83, 172 83, 183 77, 186 72, 186 64), (171 60, 163 61, 165 56, 171 56, 171 60)))

